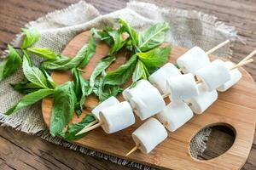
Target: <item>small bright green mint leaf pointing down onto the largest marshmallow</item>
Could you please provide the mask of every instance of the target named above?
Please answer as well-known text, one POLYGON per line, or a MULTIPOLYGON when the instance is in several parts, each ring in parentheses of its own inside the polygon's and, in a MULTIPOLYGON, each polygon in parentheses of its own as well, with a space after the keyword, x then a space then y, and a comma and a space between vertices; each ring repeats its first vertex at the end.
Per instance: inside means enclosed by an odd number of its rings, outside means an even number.
POLYGON ((149 73, 146 66, 138 59, 135 71, 132 74, 132 82, 137 82, 140 79, 148 79, 149 73))

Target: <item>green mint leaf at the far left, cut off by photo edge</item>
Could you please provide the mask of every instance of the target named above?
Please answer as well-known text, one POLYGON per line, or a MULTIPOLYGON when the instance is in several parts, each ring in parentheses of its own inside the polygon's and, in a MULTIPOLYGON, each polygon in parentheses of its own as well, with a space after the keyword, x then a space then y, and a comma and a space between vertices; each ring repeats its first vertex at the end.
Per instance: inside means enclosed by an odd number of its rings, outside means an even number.
POLYGON ((22 59, 20 55, 16 52, 15 48, 8 45, 8 56, 6 59, 0 63, 0 81, 6 77, 9 77, 15 71, 18 70, 19 66, 21 65, 22 59))

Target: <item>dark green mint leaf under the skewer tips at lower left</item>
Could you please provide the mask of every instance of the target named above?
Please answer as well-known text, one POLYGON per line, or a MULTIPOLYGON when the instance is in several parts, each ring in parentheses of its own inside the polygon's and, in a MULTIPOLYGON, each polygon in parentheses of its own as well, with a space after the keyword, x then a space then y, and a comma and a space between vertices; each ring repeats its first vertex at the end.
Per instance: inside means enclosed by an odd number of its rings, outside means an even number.
POLYGON ((76 134, 79 133, 90 122, 93 122, 93 121, 95 121, 95 117, 91 114, 88 114, 84 116, 81 122, 70 124, 67 127, 67 132, 61 132, 60 136, 67 141, 81 139, 84 136, 86 136, 87 133, 79 134, 77 136, 76 134))

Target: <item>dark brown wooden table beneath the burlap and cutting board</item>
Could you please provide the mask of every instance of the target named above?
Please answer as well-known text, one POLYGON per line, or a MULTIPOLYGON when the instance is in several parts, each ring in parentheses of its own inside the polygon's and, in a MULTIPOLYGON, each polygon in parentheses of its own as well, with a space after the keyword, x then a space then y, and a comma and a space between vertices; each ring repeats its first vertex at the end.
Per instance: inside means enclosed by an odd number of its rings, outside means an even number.
MULTIPOLYGON (((55 9, 66 8, 79 0, 0 0, 0 54, 7 44, 29 20, 35 20, 55 9)), ((128 0, 87 0, 102 14, 125 7, 128 0)), ((237 40, 232 60, 238 61, 256 48, 256 1, 255 0, 148 0, 163 7, 177 7, 201 10, 215 14, 218 20, 230 26, 236 26, 240 39, 237 40)), ((256 64, 246 66, 247 71, 256 80, 256 64)), ((231 136, 222 130, 213 130, 204 158, 221 153, 231 142, 231 136), (218 144, 211 139, 220 139, 218 144), (216 150, 216 148, 218 148, 216 150)), ((0 169, 131 169, 85 156, 59 145, 50 144, 36 136, 17 132, 9 127, 0 127, 0 169)), ((253 147, 242 169, 256 169, 256 136, 253 147)))

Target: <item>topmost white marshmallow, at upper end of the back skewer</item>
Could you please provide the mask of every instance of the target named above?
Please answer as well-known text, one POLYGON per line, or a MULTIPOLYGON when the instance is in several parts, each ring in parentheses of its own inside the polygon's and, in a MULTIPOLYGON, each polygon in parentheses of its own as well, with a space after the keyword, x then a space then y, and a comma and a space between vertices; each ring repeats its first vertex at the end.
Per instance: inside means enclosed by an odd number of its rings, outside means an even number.
POLYGON ((208 55, 199 47, 190 48, 189 51, 177 59, 177 65, 183 73, 192 73, 194 75, 195 71, 209 64, 208 55))

